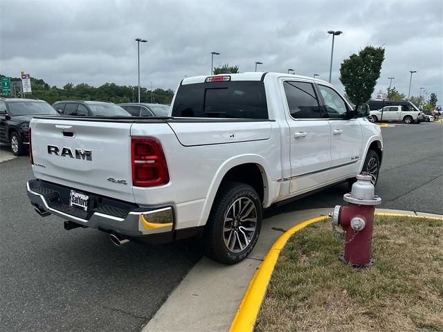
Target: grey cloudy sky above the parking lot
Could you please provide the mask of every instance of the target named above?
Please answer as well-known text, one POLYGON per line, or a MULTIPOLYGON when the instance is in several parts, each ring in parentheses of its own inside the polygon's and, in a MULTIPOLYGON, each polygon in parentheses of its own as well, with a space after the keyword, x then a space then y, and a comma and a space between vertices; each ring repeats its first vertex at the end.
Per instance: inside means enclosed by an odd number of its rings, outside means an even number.
POLYGON ((0 73, 20 71, 48 84, 137 84, 176 89, 185 75, 238 65, 241 72, 296 74, 328 80, 335 38, 332 83, 340 64, 367 45, 386 48, 374 93, 392 86, 408 95, 424 87, 443 102, 443 1, 211 1, 211 0, 1 0, 0 73))

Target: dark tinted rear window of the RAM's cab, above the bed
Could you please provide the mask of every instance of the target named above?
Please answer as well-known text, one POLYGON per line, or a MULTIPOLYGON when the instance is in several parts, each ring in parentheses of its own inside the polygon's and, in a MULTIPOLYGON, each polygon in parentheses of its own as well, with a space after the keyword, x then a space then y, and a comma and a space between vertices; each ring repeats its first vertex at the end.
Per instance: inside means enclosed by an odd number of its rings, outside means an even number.
POLYGON ((267 119, 263 82, 208 82, 179 87, 172 116, 267 119))

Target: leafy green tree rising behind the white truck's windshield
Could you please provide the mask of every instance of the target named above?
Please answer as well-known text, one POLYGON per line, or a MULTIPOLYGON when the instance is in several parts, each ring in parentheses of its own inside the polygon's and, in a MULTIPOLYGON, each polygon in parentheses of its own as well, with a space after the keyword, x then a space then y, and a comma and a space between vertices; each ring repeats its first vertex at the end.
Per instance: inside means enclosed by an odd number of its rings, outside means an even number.
POLYGON ((384 59, 384 48, 366 46, 343 61, 339 78, 352 103, 361 104, 371 98, 384 59))

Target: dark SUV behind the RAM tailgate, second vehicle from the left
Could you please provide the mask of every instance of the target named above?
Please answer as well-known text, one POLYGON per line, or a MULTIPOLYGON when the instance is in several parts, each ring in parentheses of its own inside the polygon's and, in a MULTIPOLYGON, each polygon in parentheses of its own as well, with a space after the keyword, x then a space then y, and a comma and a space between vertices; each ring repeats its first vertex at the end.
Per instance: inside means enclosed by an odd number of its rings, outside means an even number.
POLYGON ((53 108, 64 116, 131 116, 127 111, 112 102, 63 100, 55 102, 53 108))

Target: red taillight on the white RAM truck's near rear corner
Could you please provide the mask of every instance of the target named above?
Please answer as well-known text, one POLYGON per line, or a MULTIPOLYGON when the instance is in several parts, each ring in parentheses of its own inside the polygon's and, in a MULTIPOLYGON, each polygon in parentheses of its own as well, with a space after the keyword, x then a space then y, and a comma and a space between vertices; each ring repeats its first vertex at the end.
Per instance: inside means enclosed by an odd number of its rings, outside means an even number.
POLYGON ((159 140, 132 138, 132 184, 152 187, 169 182, 168 165, 159 140))

